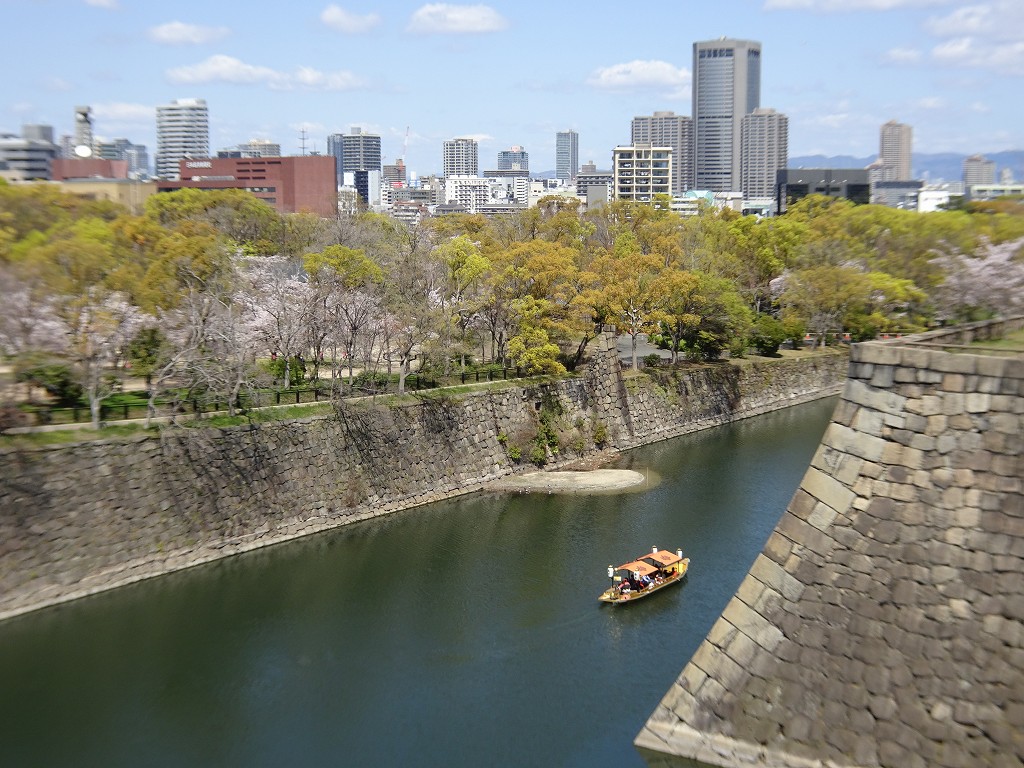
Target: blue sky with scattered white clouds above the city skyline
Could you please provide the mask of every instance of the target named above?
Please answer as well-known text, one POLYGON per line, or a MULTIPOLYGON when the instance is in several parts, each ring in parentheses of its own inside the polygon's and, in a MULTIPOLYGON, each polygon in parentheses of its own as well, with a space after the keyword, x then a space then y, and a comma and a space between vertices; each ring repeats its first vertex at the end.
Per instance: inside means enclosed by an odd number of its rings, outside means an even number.
POLYGON ((691 114, 692 44, 719 37, 762 44, 791 157, 876 156, 888 120, 915 153, 1024 148, 1024 0, 0 0, 0 132, 73 133, 87 104, 96 136, 151 162, 156 106, 204 98, 213 153, 326 153, 359 127, 421 176, 457 136, 481 170, 521 145, 545 171, 572 129, 607 168, 634 116, 691 114))

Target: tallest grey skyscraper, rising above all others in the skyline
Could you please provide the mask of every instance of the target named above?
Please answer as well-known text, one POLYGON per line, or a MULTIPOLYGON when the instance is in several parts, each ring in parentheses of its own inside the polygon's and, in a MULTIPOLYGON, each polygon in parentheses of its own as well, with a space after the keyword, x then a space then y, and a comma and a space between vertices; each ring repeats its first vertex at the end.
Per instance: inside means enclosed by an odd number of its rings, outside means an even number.
POLYGON ((740 184, 743 115, 761 105, 761 43, 720 38, 693 44, 693 186, 740 184))

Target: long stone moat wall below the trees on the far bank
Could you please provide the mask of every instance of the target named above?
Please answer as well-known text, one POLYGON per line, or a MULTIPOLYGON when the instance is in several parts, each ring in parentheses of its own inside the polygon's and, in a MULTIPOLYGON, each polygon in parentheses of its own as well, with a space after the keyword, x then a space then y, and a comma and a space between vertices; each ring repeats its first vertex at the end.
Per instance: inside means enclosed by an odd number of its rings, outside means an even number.
POLYGON ((624 376, 601 338, 579 378, 334 416, 0 455, 0 617, 534 469, 553 414, 558 466, 838 391, 845 355, 624 376), (571 446, 571 447, 570 447, 571 446))

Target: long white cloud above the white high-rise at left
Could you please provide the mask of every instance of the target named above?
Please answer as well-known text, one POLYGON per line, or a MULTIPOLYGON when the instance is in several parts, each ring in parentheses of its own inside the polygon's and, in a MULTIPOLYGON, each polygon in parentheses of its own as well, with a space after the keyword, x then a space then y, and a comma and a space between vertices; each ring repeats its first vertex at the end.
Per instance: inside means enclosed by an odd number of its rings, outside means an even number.
POLYGON ((352 90, 366 83, 350 72, 321 72, 301 67, 294 73, 278 72, 269 67, 249 65, 233 56, 217 54, 204 61, 167 71, 172 83, 234 83, 239 85, 265 85, 271 90, 352 90))

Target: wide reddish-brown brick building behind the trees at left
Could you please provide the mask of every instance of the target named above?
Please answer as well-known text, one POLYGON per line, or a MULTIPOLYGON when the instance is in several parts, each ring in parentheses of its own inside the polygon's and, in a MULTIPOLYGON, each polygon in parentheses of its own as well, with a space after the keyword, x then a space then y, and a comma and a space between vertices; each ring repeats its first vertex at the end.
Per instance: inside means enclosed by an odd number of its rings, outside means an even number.
POLYGON ((333 157, 191 158, 178 162, 179 180, 160 180, 159 191, 246 189, 280 213, 338 214, 333 157))

